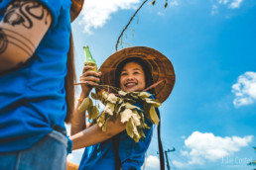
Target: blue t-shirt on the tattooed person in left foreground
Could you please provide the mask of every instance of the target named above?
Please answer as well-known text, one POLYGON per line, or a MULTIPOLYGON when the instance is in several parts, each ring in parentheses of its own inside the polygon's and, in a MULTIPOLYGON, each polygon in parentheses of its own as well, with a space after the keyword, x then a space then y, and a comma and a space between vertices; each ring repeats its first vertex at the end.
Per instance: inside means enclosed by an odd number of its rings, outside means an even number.
MULTIPOLYGON (((0 21, 12 1, 0 3, 0 21)), ((52 126, 64 127, 71 1, 39 1, 52 14, 50 29, 22 67, 0 74, 0 152, 30 148, 52 126)))

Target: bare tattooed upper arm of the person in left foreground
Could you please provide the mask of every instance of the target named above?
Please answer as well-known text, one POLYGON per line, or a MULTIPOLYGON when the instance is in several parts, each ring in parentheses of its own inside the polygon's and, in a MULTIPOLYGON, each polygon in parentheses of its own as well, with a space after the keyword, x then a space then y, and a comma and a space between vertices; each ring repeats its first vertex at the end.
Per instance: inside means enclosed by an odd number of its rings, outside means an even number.
POLYGON ((0 71, 29 59, 51 23, 49 10, 36 0, 10 3, 0 23, 0 71))

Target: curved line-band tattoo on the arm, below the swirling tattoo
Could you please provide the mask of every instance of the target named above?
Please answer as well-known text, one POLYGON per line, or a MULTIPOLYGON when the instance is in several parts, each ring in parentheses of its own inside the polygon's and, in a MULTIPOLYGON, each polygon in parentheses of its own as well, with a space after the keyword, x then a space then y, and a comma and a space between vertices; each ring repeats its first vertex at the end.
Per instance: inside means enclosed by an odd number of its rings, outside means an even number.
POLYGON ((5 52, 8 43, 16 45, 30 56, 36 48, 33 42, 24 36, 8 29, 0 29, 0 54, 5 52))

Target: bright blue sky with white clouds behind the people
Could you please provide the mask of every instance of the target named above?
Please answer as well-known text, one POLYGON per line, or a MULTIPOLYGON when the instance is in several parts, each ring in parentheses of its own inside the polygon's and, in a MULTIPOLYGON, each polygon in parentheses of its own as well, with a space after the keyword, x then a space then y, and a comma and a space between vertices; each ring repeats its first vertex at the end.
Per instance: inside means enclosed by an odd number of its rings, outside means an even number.
MULTIPOLYGON (((85 0, 72 24, 76 74, 88 44, 98 66, 115 51, 140 0, 85 0)), ((123 47, 146 45, 173 62, 177 81, 161 106, 164 150, 172 169, 253 169, 256 129, 256 1, 150 1, 125 32, 123 47)), ((122 48, 119 45, 119 49, 122 48)), ((77 89, 79 92, 79 89, 77 89)), ((155 130, 156 131, 156 130, 155 130)), ((157 135, 146 170, 157 170, 157 135)), ((78 163, 82 151, 68 160, 78 163)))

